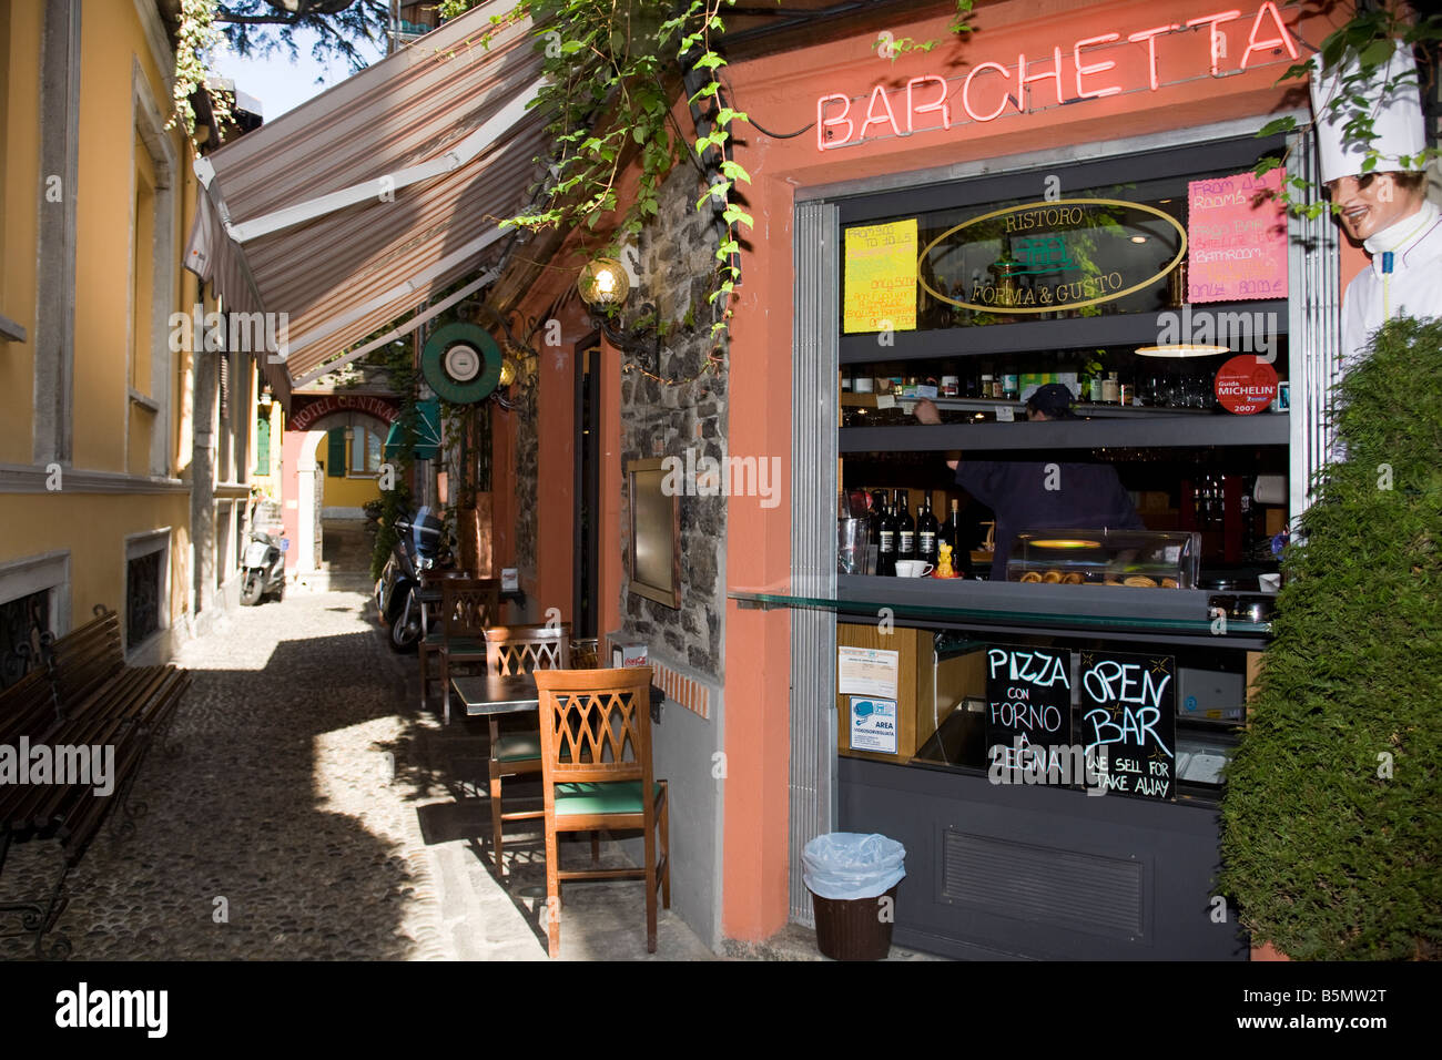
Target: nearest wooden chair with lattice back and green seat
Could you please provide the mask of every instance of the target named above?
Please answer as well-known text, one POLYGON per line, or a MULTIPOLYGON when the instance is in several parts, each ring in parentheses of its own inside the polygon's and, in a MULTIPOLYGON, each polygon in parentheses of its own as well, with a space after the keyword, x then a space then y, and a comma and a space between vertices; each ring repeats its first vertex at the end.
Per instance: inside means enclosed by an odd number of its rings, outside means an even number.
POLYGON ((561 883, 646 881, 646 952, 656 952, 656 885, 671 909, 666 782, 650 767, 650 666, 538 671, 541 772, 545 790, 547 949, 561 952, 561 883), (639 828, 640 868, 562 870, 561 832, 639 828), (660 855, 658 858, 658 832, 660 855))

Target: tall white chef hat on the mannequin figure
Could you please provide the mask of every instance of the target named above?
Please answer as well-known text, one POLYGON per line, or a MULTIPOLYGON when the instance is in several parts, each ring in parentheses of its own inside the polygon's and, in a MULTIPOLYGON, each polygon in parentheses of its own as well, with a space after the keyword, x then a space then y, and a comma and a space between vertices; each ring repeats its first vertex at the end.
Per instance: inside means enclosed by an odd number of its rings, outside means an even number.
MULTIPOLYGON (((1319 63, 1321 59, 1314 62, 1319 63)), ((1344 176, 1357 176, 1367 157, 1367 143, 1344 140, 1343 137, 1353 107, 1348 104, 1341 111, 1334 112, 1327 105, 1343 91, 1343 78, 1357 69, 1357 63, 1351 62, 1334 71, 1331 76, 1321 76, 1315 72, 1312 76, 1312 114, 1317 115, 1317 146, 1322 160, 1322 183, 1344 176)), ((1381 154, 1377 163, 1379 170, 1402 169, 1397 164, 1399 157, 1420 154, 1426 149, 1422 98, 1417 92, 1417 65, 1406 43, 1399 40, 1386 66, 1379 66, 1368 82, 1353 85, 1347 94, 1364 95, 1371 101, 1386 95, 1371 125, 1376 134, 1371 147, 1381 154), (1407 84, 1399 85, 1397 81, 1403 76, 1406 76, 1407 84)))

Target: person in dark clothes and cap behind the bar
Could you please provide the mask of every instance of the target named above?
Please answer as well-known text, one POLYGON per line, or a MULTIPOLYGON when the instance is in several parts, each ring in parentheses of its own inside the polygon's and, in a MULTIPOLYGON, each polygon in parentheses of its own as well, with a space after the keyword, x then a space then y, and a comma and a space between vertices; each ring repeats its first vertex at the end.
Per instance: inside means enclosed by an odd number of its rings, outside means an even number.
MULTIPOLYGON (((1027 399, 1028 423, 1076 420, 1071 391, 1050 382, 1027 399)), ((921 399, 916 418, 942 423, 936 404, 921 399)), ((1040 460, 947 460, 956 483, 996 515, 992 581, 1007 580, 1018 534, 1030 529, 1146 529, 1110 464, 1040 460)))

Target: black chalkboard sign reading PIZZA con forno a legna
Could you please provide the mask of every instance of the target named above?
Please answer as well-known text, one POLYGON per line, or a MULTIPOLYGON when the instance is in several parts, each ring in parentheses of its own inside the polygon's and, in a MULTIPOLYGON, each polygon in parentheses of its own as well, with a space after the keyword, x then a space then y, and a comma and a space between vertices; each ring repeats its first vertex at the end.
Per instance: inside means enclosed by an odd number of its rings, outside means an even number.
POLYGON ((1060 754, 1070 743, 1071 652, 988 648, 986 760, 1008 772, 1025 770, 1028 748, 1050 757, 1053 747, 1060 754))

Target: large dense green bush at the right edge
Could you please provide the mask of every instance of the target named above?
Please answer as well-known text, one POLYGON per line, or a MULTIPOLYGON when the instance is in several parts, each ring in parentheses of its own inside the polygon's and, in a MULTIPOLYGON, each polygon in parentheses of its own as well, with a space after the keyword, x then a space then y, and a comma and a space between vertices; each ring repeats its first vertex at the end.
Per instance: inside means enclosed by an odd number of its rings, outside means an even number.
POLYGON ((1442 956, 1442 322, 1337 388, 1341 463, 1289 547, 1221 891, 1295 959, 1442 956))

